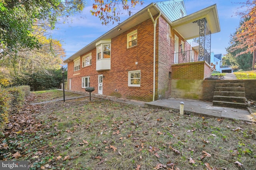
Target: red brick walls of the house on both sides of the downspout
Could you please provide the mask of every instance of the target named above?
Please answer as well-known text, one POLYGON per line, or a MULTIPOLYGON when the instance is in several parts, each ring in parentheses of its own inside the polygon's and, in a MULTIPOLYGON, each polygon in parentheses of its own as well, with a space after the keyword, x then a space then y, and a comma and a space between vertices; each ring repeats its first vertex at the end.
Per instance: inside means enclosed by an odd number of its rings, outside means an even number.
MULTIPOLYGON (((156 16, 154 17, 156 18, 156 16)), ((156 27, 156 96, 155 100, 168 98, 171 95, 171 78, 169 72, 174 62, 174 34, 179 37, 179 44, 184 39, 172 30, 164 18, 160 17, 156 27)), ((90 76, 90 86, 95 88, 92 93, 98 93, 98 75, 103 74, 103 94, 128 99, 152 101, 153 97, 153 43, 154 26, 152 20, 146 20, 128 31, 112 38, 111 40, 111 69, 96 71, 96 47, 88 53, 92 53, 92 65, 82 68, 82 56, 80 57, 80 70, 74 72, 74 62, 68 63, 68 89, 71 79, 71 90, 82 91, 82 77, 90 76), (127 34, 138 31, 138 44, 127 49, 127 34), (138 64, 135 64, 138 62, 138 64), (128 71, 140 70, 140 87, 128 86, 128 71)), ((190 45, 185 42, 185 50, 190 50, 190 45)), ((180 49, 179 49, 180 51, 180 49)), ((182 60, 182 59, 181 59, 182 60)), ((203 64, 202 64, 203 65, 203 64)), ((181 69, 183 66, 180 66, 181 69)), ((202 66, 203 67, 203 66, 202 66)), ((176 67, 177 68, 177 67, 176 67)), ((188 68, 185 72, 190 72, 188 68)), ((192 68, 194 69, 194 68, 192 68)), ((198 70, 199 68, 196 68, 198 70)), ((184 72, 183 71, 183 72, 184 72)), ((196 72, 196 71, 195 71, 196 72)), ((196 73, 198 74, 198 73, 196 73)), ((204 77, 203 75, 200 75, 204 77)))

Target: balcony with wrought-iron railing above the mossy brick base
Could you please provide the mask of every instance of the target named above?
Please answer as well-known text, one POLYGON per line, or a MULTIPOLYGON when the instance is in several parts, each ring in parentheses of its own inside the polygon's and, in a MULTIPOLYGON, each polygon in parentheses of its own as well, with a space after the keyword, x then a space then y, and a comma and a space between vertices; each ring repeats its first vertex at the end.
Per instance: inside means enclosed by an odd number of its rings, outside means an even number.
POLYGON ((176 57, 176 62, 174 62, 174 64, 190 63, 196 61, 206 61, 208 64, 210 64, 211 60, 210 54, 206 50, 204 53, 200 53, 199 49, 173 53, 173 55, 176 57))

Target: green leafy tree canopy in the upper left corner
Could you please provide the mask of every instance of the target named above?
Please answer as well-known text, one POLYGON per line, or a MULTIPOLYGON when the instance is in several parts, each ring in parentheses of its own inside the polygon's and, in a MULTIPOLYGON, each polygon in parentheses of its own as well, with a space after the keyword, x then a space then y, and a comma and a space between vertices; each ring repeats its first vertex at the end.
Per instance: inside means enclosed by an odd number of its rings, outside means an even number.
POLYGON ((53 29, 58 17, 82 11, 83 0, 0 0, 0 59, 20 49, 40 49, 33 26, 53 29))

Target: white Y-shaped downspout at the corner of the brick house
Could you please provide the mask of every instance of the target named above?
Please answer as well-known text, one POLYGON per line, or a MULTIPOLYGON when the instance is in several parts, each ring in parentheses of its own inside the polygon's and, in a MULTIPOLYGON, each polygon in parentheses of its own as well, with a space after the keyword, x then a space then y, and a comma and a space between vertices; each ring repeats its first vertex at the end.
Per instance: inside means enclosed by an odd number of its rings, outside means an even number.
POLYGON ((154 70, 153 70, 153 100, 152 101, 155 101, 155 96, 156 96, 156 23, 157 23, 158 18, 161 16, 161 12, 159 12, 159 15, 156 17, 155 20, 152 17, 149 9, 148 9, 148 14, 154 24, 154 53, 153 53, 153 57, 154 57, 153 69, 154 70))

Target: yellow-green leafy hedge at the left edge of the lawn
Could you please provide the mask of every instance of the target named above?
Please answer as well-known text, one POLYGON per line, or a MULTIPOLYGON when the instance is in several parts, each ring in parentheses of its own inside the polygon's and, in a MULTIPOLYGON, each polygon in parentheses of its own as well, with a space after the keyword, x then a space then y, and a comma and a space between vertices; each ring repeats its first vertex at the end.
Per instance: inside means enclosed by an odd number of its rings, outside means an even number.
POLYGON ((25 97, 30 92, 30 86, 18 86, 0 89, 0 134, 9 122, 8 115, 17 113, 24 105, 25 97))

